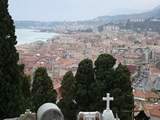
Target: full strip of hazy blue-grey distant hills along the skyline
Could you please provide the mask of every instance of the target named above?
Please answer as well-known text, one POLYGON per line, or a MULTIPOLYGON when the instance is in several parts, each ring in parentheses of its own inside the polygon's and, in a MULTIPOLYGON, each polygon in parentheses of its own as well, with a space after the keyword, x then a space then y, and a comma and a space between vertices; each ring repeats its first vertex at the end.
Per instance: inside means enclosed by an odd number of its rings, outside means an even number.
POLYGON ((137 14, 122 14, 115 16, 100 16, 95 19, 87 21, 64 21, 64 22, 40 22, 40 21, 15 21, 17 28, 37 28, 37 29, 52 29, 57 31, 64 30, 88 30, 97 28, 107 23, 126 23, 128 19, 147 19, 147 18, 160 18, 160 6, 157 6, 151 11, 137 14))

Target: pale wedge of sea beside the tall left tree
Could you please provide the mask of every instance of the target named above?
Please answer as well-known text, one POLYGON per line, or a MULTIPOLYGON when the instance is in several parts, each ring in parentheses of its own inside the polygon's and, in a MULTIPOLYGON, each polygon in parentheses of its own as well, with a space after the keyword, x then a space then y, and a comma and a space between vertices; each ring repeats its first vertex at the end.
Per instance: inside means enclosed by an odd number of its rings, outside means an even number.
POLYGON ((36 29, 16 29, 18 45, 36 41, 47 41, 58 34, 52 32, 41 32, 36 29))

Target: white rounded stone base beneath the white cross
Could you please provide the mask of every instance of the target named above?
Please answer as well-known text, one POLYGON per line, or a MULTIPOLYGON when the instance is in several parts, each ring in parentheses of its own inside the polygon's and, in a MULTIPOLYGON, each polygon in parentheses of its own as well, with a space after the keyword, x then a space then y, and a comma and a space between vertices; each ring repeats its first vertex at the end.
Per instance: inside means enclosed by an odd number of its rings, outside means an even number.
POLYGON ((102 114, 103 120, 115 120, 111 110, 104 110, 102 114))

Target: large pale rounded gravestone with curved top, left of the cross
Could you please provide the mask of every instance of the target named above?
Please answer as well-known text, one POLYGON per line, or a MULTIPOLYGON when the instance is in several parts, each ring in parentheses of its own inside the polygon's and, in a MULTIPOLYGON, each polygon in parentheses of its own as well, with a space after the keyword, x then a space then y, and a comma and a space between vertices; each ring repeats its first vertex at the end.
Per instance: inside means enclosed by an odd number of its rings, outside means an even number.
POLYGON ((45 103, 37 111, 37 120, 64 120, 64 117, 57 105, 45 103))

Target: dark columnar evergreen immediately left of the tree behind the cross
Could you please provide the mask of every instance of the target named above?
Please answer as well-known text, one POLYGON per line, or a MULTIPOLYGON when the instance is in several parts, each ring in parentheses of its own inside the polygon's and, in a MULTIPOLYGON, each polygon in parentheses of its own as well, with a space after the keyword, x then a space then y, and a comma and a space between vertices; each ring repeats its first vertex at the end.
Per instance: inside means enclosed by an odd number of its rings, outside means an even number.
POLYGON ((76 73, 76 102, 80 111, 91 111, 94 109, 94 69, 90 59, 79 63, 76 73))

